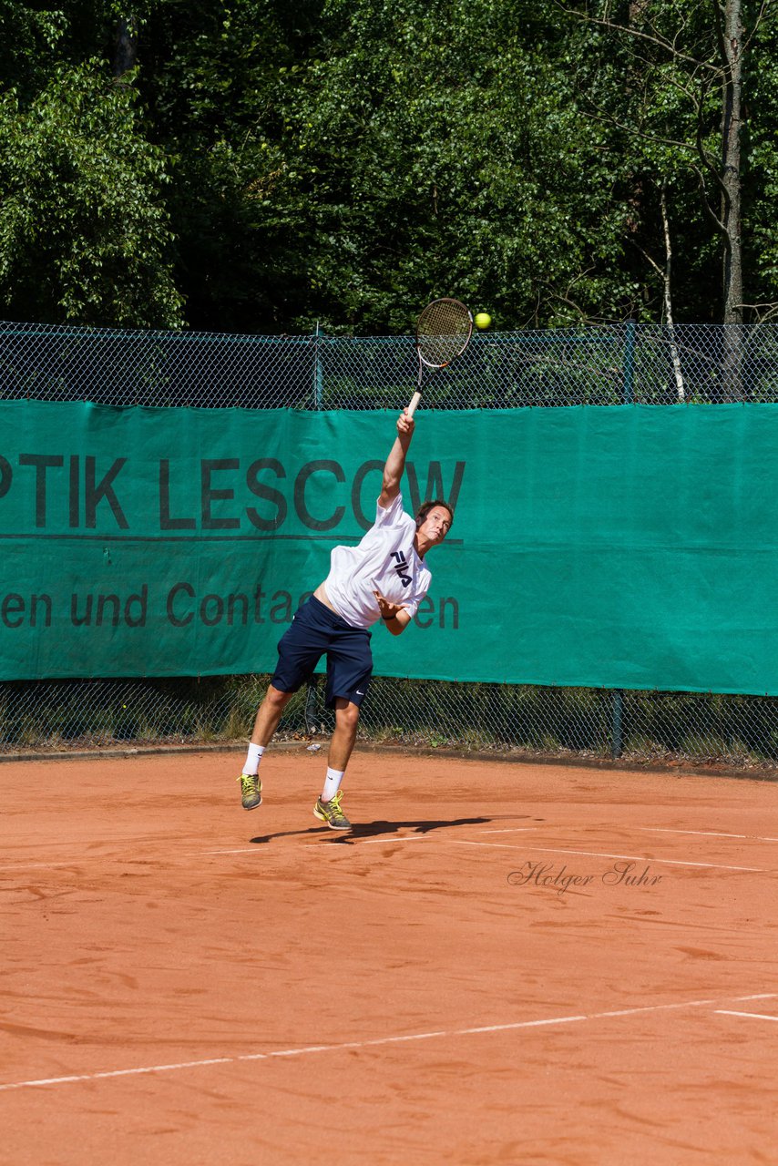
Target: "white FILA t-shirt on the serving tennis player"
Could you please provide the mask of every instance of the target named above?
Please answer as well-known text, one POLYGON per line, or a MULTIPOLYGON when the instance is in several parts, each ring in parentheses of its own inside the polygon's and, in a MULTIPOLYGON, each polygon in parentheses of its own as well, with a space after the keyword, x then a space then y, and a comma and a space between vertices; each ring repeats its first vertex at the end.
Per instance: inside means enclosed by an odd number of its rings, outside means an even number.
POLYGON ((383 510, 356 547, 335 547, 324 589, 342 619, 352 627, 370 627, 380 619, 373 591, 401 603, 409 616, 423 599, 432 575, 416 554, 416 524, 402 510, 402 496, 383 510))

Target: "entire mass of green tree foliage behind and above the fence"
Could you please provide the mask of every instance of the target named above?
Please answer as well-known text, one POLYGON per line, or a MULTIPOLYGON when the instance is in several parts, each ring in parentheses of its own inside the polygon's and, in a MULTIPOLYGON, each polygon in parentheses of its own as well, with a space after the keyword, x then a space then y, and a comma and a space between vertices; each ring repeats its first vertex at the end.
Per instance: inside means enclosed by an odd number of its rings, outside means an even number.
MULTIPOLYGON (((743 7, 744 298, 765 316, 775 0, 743 7)), ((716 210, 715 13, 0 0, 2 310, 376 333, 456 294, 500 329, 659 319, 670 239, 677 318, 721 318, 720 234, 700 197, 702 178, 716 210)))

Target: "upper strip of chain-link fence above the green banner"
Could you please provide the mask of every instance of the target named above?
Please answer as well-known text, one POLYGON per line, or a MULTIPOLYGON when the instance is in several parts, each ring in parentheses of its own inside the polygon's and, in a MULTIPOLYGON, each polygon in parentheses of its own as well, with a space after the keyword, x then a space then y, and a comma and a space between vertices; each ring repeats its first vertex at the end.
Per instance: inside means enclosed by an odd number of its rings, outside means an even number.
MULTIPOLYGON (((0 323, 0 399, 199 408, 395 409, 412 337, 232 336, 0 323)), ((426 407, 778 401, 778 324, 476 333, 426 407)))

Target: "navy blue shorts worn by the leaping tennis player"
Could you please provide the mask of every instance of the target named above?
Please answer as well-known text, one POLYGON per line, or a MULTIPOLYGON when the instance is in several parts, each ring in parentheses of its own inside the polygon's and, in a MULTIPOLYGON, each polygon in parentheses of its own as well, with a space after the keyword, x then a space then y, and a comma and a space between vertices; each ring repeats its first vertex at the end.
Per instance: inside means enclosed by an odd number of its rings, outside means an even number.
POLYGON ((279 640, 279 662, 271 684, 281 693, 296 693, 310 680, 323 655, 328 708, 332 708, 338 696, 362 704, 373 670, 370 632, 351 627, 311 595, 279 640))

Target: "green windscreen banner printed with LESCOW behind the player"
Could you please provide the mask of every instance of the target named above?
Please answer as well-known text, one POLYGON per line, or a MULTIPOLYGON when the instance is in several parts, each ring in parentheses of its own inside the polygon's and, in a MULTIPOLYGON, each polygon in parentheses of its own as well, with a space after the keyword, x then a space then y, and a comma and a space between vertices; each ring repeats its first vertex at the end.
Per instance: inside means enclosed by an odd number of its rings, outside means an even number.
MULTIPOLYGON (((271 672, 386 412, 0 402, 0 679, 271 672)), ((420 412, 448 541, 381 675, 778 694, 778 406, 420 412)))

